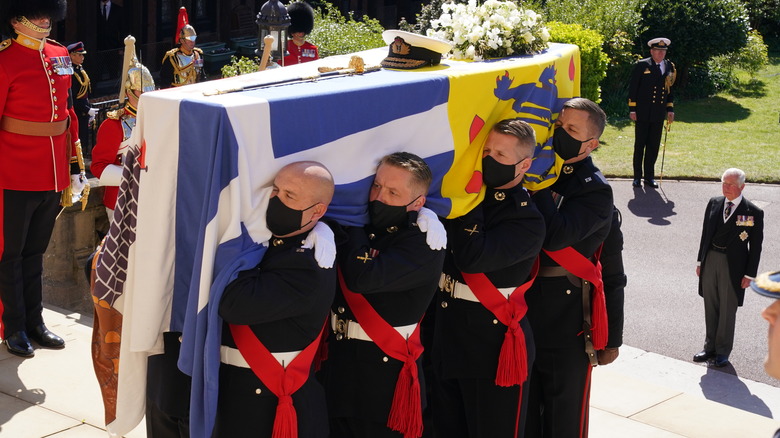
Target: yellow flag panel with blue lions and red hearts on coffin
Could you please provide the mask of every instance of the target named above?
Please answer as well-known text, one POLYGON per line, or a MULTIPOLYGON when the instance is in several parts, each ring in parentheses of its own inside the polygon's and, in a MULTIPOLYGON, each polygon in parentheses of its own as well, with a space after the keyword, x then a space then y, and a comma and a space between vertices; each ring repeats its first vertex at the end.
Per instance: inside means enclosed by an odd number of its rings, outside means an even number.
POLYGON ((579 96, 579 49, 558 44, 533 57, 444 62, 448 68, 431 70, 450 80, 455 157, 441 188, 442 196, 452 201, 448 217, 462 216, 484 197, 482 148, 490 128, 503 119, 520 118, 536 132, 536 152, 524 186, 539 190, 554 183, 563 160, 552 149, 552 123, 563 103, 579 96))

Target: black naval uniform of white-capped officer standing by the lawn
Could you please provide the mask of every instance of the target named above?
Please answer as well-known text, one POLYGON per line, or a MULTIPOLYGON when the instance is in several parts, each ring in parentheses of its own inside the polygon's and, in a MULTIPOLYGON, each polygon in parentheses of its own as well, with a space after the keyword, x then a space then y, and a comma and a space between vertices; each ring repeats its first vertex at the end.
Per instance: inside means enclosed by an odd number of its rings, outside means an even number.
POLYGON ((634 127, 634 179, 655 178, 655 161, 661 144, 661 132, 667 113, 674 112, 674 96, 666 89, 666 78, 674 73, 674 64, 662 61, 664 73, 653 58, 637 61, 628 86, 628 109, 636 112, 634 127), (644 164, 643 164, 644 157, 644 164))

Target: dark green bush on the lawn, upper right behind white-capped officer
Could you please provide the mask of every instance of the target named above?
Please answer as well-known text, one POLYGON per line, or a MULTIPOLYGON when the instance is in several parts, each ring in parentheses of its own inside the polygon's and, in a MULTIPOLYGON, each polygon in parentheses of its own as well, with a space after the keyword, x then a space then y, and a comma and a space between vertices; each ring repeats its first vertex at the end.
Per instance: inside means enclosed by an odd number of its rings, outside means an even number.
POLYGON ((691 67, 739 50, 748 40, 748 14, 742 0, 649 0, 642 20, 647 29, 641 41, 658 36, 672 40, 668 57, 677 66, 679 88, 687 85, 691 67))

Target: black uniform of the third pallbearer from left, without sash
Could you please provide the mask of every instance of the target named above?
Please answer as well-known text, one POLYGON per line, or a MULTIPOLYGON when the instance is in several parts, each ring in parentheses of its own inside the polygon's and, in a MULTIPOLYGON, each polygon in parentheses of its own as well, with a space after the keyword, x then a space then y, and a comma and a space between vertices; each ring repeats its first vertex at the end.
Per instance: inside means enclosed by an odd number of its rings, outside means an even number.
MULTIPOLYGON (((446 222, 448 247, 443 289, 437 294, 433 347, 433 416, 437 436, 516 437, 523 434, 527 382, 496 385, 498 358, 507 326, 479 302, 453 298, 450 279, 461 272, 485 273, 497 288, 529 280, 545 235, 544 218, 521 186, 487 189, 466 215, 446 222), (521 413, 520 410, 523 412, 521 413)), ((528 319, 520 320, 530 375, 534 340, 528 319)))

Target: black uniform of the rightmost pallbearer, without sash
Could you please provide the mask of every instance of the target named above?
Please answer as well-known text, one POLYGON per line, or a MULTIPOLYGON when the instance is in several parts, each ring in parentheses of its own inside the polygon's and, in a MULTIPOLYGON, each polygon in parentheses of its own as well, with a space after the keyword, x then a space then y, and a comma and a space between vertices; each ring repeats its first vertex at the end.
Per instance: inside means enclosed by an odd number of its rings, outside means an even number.
MULTIPOLYGON (((564 165, 558 180, 538 192, 534 201, 547 222, 545 250, 572 247, 591 258, 609 233, 612 188, 590 157, 564 165)), ((559 265, 544 252, 540 264, 539 275, 526 293, 536 361, 525 436, 586 436, 590 361, 583 338, 582 280, 545 274, 559 265)))

